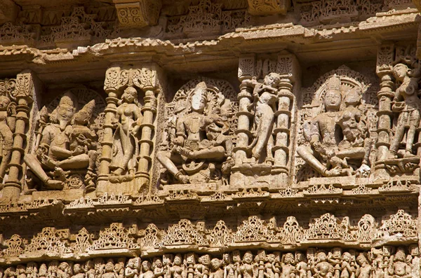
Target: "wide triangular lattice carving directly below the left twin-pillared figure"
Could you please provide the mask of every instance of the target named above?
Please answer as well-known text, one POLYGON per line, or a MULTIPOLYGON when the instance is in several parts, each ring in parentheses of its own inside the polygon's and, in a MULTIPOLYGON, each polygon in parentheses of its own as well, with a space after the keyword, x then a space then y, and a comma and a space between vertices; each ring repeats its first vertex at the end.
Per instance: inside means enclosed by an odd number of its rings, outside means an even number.
POLYGON ((100 231, 100 237, 93 243, 94 250, 139 248, 133 236, 121 223, 112 223, 109 228, 100 231))

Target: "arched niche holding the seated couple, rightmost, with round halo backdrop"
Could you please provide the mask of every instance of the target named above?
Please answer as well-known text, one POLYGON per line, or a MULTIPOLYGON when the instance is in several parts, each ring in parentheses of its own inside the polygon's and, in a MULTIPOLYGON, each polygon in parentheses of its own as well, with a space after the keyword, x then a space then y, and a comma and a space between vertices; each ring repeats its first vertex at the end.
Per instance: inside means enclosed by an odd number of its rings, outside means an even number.
POLYGON ((374 96, 368 78, 345 66, 304 90, 298 118, 297 181, 370 176, 376 139, 374 96))

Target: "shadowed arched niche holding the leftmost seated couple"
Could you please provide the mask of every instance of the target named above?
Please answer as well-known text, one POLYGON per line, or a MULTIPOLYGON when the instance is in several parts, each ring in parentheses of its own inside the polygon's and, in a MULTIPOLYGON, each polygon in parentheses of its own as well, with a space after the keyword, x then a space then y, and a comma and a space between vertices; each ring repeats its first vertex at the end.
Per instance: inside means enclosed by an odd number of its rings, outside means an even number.
POLYGON ((32 153, 26 153, 27 193, 95 190, 105 100, 80 86, 39 111, 32 153))

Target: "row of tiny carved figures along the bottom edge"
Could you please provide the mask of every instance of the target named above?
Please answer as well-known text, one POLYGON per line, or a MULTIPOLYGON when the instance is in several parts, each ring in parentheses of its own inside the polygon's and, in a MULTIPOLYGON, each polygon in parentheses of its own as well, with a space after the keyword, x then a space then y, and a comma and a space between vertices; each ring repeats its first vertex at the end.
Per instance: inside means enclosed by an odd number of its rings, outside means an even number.
POLYGON ((86 262, 27 263, 1 270, 3 278, 410 278, 420 277, 417 245, 370 251, 333 248, 295 253, 233 251, 141 258, 94 258, 86 262))

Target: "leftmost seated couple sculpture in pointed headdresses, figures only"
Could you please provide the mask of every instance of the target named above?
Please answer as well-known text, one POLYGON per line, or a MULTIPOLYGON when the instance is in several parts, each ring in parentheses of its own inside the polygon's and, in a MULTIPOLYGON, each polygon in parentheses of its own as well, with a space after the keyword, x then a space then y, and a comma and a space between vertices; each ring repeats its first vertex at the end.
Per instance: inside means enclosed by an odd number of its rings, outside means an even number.
POLYGON ((36 155, 25 154, 25 163, 46 188, 62 189, 71 170, 80 170, 85 173, 86 190, 94 189, 96 135, 86 126, 94 108, 95 101, 91 101, 75 113, 76 99, 65 93, 42 131, 36 155))

